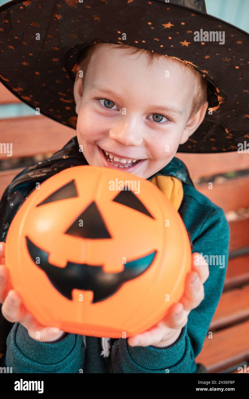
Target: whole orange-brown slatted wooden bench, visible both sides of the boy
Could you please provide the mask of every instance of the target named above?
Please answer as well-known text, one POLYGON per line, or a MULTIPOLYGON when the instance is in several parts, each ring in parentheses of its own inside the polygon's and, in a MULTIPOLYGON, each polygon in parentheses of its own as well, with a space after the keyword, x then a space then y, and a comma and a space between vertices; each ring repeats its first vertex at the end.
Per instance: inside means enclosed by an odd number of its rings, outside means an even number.
MULTIPOLYGON (((0 106, 18 102, 0 85, 0 106)), ((22 157, 54 153, 75 136, 75 130, 41 115, 0 119, 0 132, 0 142, 13 143, 12 157, 0 154, 0 160, 11 159, 12 162, 22 157)), ((249 208, 249 154, 177 153, 176 156, 185 162, 197 190, 224 209, 231 231, 225 286, 209 327, 213 338, 205 338, 196 361, 203 363, 209 372, 238 372, 238 367, 244 369, 249 360, 249 212, 246 212, 249 208), (233 176, 233 172, 238 172, 239 176, 233 176), (228 174, 232 177, 226 179, 228 174), (209 182, 213 182, 211 190, 209 182), (244 209, 238 212, 241 208, 244 209)), ((0 196, 22 169, 0 171, 0 196)))

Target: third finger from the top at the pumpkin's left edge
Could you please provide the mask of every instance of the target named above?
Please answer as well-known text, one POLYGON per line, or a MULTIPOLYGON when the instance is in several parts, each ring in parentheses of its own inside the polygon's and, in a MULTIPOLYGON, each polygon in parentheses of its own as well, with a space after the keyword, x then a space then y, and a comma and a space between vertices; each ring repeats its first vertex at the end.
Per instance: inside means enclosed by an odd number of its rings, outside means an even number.
POLYGON ((2 314, 11 323, 21 322, 25 317, 22 299, 15 290, 10 290, 2 304, 2 314))

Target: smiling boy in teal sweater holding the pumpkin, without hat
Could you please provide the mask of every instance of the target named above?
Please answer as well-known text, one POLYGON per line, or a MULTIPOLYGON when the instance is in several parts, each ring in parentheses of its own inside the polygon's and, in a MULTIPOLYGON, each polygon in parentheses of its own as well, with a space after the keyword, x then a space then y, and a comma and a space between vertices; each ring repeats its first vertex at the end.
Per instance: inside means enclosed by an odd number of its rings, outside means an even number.
MULTIPOLYGON (((72 165, 121 168, 148 180, 174 176, 183 188, 178 211, 192 239, 192 271, 181 301, 171 306, 165 319, 137 336, 108 340, 41 326, 17 292, 6 292, 9 277, 3 261, 2 314, 14 323, 3 364, 16 373, 206 372, 195 358, 221 296, 229 226, 223 210, 195 190, 175 153, 179 145, 190 143, 189 137, 205 118, 207 81, 179 59, 100 42, 88 47, 74 73, 77 137, 49 160, 26 168, 14 179, 0 204, 0 211, 8 215, 8 219, 2 216, 2 225, 7 220, 10 223, 14 209, 34 189, 35 181, 42 182, 72 165), (11 214, 6 198, 20 193, 22 198, 16 200, 11 214), (221 255, 224 262, 208 267, 202 254, 207 259, 221 255)), ((1 233, 5 239, 6 231, 1 233)))

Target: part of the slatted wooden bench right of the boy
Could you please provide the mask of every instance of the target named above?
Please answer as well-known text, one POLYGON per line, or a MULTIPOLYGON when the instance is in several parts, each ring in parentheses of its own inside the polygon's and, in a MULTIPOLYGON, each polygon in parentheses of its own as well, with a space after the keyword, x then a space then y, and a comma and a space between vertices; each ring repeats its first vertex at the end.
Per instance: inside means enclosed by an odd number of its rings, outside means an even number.
POLYGON ((249 372, 249 154, 176 156, 185 162, 196 189, 223 208, 230 227, 227 275, 209 326, 213 335, 205 338, 196 361, 210 373, 237 373, 238 367, 249 372), (201 178, 205 183, 198 182, 201 178))

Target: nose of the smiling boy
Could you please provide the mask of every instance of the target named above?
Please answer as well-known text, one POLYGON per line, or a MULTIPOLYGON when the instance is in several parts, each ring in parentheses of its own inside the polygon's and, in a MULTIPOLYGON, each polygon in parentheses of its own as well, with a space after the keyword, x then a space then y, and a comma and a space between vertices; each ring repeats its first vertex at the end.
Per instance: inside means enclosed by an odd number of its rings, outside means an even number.
POLYGON ((122 120, 109 130, 109 136, 124 146, 141 146, 143 134, 135 121, 122 120))

